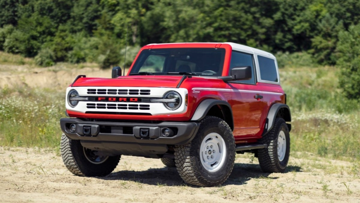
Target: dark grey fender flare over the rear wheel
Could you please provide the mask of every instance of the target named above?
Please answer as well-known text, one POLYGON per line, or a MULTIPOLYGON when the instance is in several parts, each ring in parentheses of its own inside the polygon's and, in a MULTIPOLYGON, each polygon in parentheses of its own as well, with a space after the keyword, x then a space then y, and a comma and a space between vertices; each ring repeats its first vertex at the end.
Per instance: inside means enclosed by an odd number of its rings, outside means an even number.
MULTIPOLYGON (((290 113, 289 106, 286 104, 282 104, 282 103, 275 103, 275 104, 271 105, 269 112, 267 113, 267 117, 266 117, 267 122, 266 122, 263 134, 266 134, 267 132, 269 132, 271 130, 271 128, 273 128, 276 115, 278 115, 280 110, 284 111, 284 115, 283 115, 284 120, 286 122, 291 122, 291 113, 290 113)), ((291 124, 287 124, 287 126, 290 131, 291 124)))

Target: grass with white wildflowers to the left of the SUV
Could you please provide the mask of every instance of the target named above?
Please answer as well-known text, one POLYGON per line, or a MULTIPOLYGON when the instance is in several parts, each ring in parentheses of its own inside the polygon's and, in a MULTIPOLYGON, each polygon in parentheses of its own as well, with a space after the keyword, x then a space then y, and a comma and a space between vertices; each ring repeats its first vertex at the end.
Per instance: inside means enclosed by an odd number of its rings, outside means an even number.
POLYGON ((0 91, 0 145, 58 148, 64 95, 25 87, 0 91))

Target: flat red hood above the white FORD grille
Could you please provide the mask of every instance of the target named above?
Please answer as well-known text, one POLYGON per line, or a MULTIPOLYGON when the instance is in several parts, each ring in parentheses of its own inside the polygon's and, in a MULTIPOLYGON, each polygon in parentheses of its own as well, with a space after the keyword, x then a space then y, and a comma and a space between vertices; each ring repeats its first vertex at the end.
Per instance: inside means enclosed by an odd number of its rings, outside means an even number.
POLYGON ((118 78, 79 78, 72 86, 106 87, 176 87, 182 75, 136 75, 118 78))

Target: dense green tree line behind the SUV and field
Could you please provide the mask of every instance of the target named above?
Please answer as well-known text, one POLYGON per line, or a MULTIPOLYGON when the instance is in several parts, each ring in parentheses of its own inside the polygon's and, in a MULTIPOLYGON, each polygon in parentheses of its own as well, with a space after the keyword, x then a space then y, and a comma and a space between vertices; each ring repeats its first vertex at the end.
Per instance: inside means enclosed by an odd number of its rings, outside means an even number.
POLYGON ((360 35, 359 0, 0 0, 0 8, 0 50, 43 66, 107 68, 124 62, 125 44, 129 65, 148 43, 235 42, 346 67, 356 66, 346 49, 360 35))

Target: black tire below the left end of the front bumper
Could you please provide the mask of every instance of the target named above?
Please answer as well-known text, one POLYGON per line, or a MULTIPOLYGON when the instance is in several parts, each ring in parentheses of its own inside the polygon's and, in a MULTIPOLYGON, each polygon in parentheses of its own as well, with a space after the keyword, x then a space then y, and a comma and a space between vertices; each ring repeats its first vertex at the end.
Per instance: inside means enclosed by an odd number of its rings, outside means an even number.
POLYGON ((120 155, 109 156, 103 162, 94 164, 86 158, 85 150, 80 140, 69 139, 64 133, 62 134, 61 156, 66 168, 76 176, 106 176, 116 168, 120 161, 120 155))

